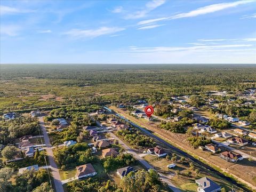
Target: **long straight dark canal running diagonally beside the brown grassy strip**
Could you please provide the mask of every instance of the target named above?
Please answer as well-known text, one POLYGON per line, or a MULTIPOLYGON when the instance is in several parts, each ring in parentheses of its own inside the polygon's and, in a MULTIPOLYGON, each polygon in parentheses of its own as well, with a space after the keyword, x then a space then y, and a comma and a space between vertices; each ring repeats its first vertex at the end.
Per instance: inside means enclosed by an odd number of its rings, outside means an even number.
MULTIPOLYGON (((111 111, 111 110, 108 109, 107 107, 105 107, 105 109, 111 111)), ((113 114, 116 115, 116 116, 118 116, 118 117, 120 117, 120 118, 122 118, 122 119, 124 119, 125 121, 129 122, 131 125, 137 127, 138 129, 140 129, 141 131, 143 131, 144 133, 146 133, 146 134, 149 135, 150 137, 153 137, 153 138, 157 139, 159 142, 162 142, 162 143, 163 143, 164 145, 166 145, 167 147, 170 147, 171 149, 177 151, 177 152, 178 152, 179 154, 181 154, 182 156, 184 156, 184 157, 190 159, 191 161, 193 161, 193 162, 199 164, 199 165, 202 166, 202 167, 205 167, 208 171, 211 171, 211 172, 217 174, 219 177, 221 177, 221 178, 223 178, 223 179, 226 179, 226 180, 229 181, 230 183, 233 183, 233 185, 238 186, 238 187, 242 188, 242 189, 245 190, 245 191, 249 191, 247 188, 245 188, 243 185, 237 183, 235 180, 233 180, 233 179, 227 177, 226 175, 224 175, 224 174, 218 172, 217 170, 213 169, 211 166, 209 166, 209 165, 207 165, 207 164, 205 164, 205 163, 199 161, 199 160, 196 159, 195 157, 193 157, 193 156, 187 154, 185 151, 182 151, 181 149, 172 146, 169 142, 166 142, 165 140, 163 140, 163 139, 157 137, 156 135, 150 133, 148 130, 144 129, 143 127, 141 127, 141 126, 139 126, 139 125, 137 125, 137 124, 135 124, 135 123, 133 123, 133 122, 130 122, 129 119, 123 117, 122 115, 119 115, 119 114, 116 114, 116 113, 113 113, 113 114)))

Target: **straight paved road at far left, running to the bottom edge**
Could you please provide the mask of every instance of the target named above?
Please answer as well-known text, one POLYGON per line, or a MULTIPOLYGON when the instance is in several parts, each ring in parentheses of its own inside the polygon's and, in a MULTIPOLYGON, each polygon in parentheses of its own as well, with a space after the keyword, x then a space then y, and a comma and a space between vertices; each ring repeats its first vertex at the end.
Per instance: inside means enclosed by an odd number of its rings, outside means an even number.
POLYGON ((52 177, 53 177, 55 189, 56 189, 57 192, 64 192, 63 187, 62 187, 62 183, 61 183, 61 180, 60 180, 59 169, 58 169, 58 167, 57 167, 57 165, 54 161, 54 158, 53 158, 52 146, 51 146, 50 139, 48 137, 48 134, 47 134, 47 131, 46 131, 46 128, 45 128, 43 117, 39 117, 39 125, 40 125, 41 130, 42 130, 43 135, 44 135, 44 141, 45 141, 45 144, 46 144, 46 153, 47 153, 47 156, 49 158, 50 165, 51 165, 52 177))

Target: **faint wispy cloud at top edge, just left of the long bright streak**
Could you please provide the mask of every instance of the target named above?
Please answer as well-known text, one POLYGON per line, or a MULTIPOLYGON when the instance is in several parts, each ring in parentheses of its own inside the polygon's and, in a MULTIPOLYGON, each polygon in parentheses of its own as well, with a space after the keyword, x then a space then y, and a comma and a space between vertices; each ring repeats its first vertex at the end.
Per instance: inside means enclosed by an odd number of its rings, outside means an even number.
POLYGON ((134 13, 130 13, 126 15, 126 19, 139 19, 145 17, 150 11, 153 11, 157 7, 163 5, 165 3, 165 0, 153 0, 148 3, 146 3, 144 9, 140 11, 136 11, 134 13))

